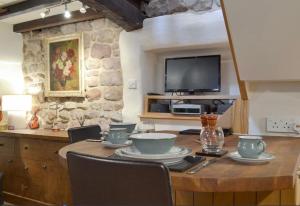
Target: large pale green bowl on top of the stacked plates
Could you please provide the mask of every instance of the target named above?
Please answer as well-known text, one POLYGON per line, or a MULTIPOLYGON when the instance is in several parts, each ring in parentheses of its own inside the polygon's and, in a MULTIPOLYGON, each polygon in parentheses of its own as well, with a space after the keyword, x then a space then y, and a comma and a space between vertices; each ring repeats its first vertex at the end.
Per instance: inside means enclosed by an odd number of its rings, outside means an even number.
POLYGON ((174 146, 176 135, 141 133, 130 136, 133 145, 143 154, 165 154, 174 146))

